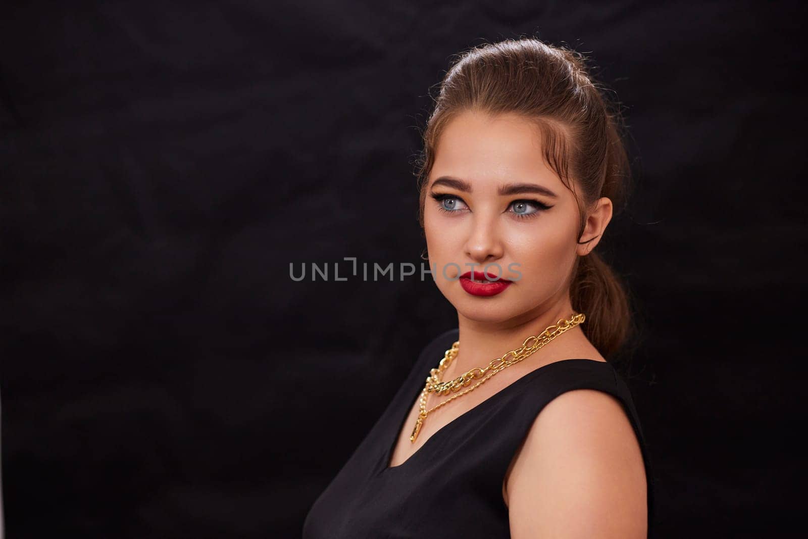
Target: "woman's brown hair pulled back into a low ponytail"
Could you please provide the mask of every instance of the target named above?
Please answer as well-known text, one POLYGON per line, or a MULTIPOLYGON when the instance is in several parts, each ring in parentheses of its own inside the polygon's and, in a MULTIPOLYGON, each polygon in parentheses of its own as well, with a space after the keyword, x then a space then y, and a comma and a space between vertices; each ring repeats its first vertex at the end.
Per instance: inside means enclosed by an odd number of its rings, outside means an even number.
MULTIPOLYGON (((630 174, 622 118, 595 86, 586 61, 570 48, 526 37, 478 45, 457 56, 422 133, 417 162, 422 231, 437 141, 448 122, 465 111, 517 114, 536 125, 546 162, 578 202, 579 239, 585 209, 595 200, 608 197, 614 213, 623 208, 630 174)), ((587 315, 581 326, 587 339, 612 356, 633 329, 625 285, 594 250, 576 259, 568 282, 573 309, 587 315)))

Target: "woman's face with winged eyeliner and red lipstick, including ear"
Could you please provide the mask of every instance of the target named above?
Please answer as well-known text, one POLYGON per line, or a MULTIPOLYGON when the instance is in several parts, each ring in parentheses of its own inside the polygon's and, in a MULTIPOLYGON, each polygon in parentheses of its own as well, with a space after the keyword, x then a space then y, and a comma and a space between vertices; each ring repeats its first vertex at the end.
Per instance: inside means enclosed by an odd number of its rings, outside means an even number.
POLYGON ((608 198, 600 199, 580 239, 598 238, 578 245, 579 208, 545 163, 535 126, 514 115, 474 112, 444 128, 425 204, 433 279, 458 314, 479 322, 569 303, 575 258, 594 248, 612 214, 608 198), (512 282, 503 288, 484 276, 481 284, 458 279, 475 271, 512 282))

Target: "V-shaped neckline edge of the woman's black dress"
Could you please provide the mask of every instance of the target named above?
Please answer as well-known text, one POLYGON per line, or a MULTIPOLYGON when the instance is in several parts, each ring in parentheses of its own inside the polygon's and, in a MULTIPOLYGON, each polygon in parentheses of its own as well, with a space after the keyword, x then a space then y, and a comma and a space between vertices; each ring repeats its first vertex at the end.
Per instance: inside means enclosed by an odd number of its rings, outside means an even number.
MULTIPOLYGON (((417 390, 415 391, 415 394, 410 393, 409 391, 405 392, 405 394, 408 396, 408 398, 406 400, 406 406, 402 406, 404 408, 403 415, 396 416, 396 417, 399 418, 398 421, 395 423, 395 424, 398 425, 398 427, 393 432, 393 441, 389 442, 389 443, 385 442, 385 453, 381 457, 380 470, 377 470, 377 475, 393 474, 393 473, 396 473, 398 470, 406 469, 408 467, 408 465, 410 465, 411 461, 413 461, 414 459, 417 459, 419 457, 419 455, 421 455, 421 453, 424 453, 424 449, 427 449, 427 446, 430 446, 430 444, 433 443, 432 440, 434 440, 436 437, 441 436, 441 435, 446 436, 445 431, 451 430, 453 427, 456 427, 458 423, 461 423, 461 421, 463 421, 465 419, 468 419, 468 416, 473 415, 473 412, 477 411, 478 408, 485 408, 486 406, 491 406, 491 403, 494 402, 497 398, 501 398, 502 394, 506 394, 508 391, 513 391, 515 389, 515 386, 518 387, 520 385, 524 385, 524 383, 531 380, 533 377, 537 377, 537 375, 539 373, 546 373, 549 370, 550 367, 553 367, 553 365, 559 365, 559 364, 567 365, 567 364, 570 364, 570 362, 578 362, 578 361, 586 361, 588 363, 602 363, 602 364, 608 364, 608 365, 611 366, 611 364, 608 361, 589 360, 589 359, 584 359, 584 358, 570 358, 570 359, 567 359, 567 360, 553 361, 551 363, 541 365, 541 367, 539 367, 539 368, 534 368, 529 373, 524 374, 519 378, 516 378, 515 381, 512 381, 510 384, 506 385, 505 387, 503 387, 503 389, 497 391, 496 393, 491 395, 489 398, 486 398, 486 400, 478 403, 476 406, 473 406, 469 410, 463 412, 461 415, 458 415, 455 419, 452 419, 451 421, 446 423, 443 427, 440 427, 436 432, 433 432, 432 435, 429 436, 429 438, 427 438, 427 441, 425 441, 421 445, 421 447, 419 447, 418 449, 415 450, 415 453, 412 453, 410 455, 410 457, 407 457, 406 461, 403 461, 399 465, 390 466, 389 465, 390 457, 393 456, 393 451, 395 450, 396 445, 398 444, 398 436, 402 432, 402 428, 404 427, 404 422, 406 421, 407 416, 410 415, 411 406, 415 402, 415 399, 418 398, 421 391, 423 391, 423 382, 419 382, 420 385, 418 386, 417 390)), ((553 368, 558 368, 558 367, 553 367, 553 368)), ((421 377, 418 377, 418 380, 421 380, 421 379, 422 379, 421 377)))

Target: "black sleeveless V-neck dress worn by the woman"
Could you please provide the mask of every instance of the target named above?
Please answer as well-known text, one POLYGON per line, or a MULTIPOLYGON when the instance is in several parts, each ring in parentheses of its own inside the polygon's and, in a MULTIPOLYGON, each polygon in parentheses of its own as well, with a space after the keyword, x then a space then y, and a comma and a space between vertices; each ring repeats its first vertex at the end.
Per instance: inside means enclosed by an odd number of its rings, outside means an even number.
POLYGON ((387 468, 429 370, 458 334, 446 331, 423 348, 387 410, 309 509, 303 539, 511 537, 502 495, 507 467, 541 409, 577 389, 605 391, 623 403, 646 464, 653 537, 653 474, 638 415, 625 382, 603 361, 560 360, 537 368, 440 428, 401 465, 387 468))

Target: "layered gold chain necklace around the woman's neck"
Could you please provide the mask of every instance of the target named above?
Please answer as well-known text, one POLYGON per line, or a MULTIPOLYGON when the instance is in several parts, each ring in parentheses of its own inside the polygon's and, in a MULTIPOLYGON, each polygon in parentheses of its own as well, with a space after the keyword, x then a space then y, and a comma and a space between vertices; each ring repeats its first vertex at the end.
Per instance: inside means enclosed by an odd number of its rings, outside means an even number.
POLYGON ((415 428, 412 429, 412 434, 410 435, 410 442, 415 442, 415 438, 418 437, 418 433, 421 430, 421 426, 423 425, 423 421, 427 419, 427 415, 431 411, 435 411, 436 409, 440 408, 440 406, 444 406, 447 402, 454 400, 455 398, 460 397, 461 395, 469 393, 469 391, 477 388, 478 385, 482 384, 484 381, 488 380, 490 377, 494 376, 494 374, 499 373, 499 371, 503 370, 503 368, 510 367, 512 364, 519 363, 524 358, 530 356, 533 352, 536 352, 545 344, 549 343, 551 340, 558 337, 567 330, 572 329, 574 326, 578 326, 581 322, 586 320, 587 317, 583 313, 573 313, 569 320, 561 318, 553 324, 552 326, 547 326, 545 331, 542 331, 539 335, 531 335, 527 339, 524 339, 524 343, 522 346, 516 348, 516 350, 511 350, 510 352, 505 352, 502 357, 498 357, 495 360, 491 361, 487 367, 479 368, 475 367, 472 368, 470 371, 467 371, 461 374, 459 377, 455 378, 454 380, 450 381, 441 381, 440 375, 448 368, 450 364, 452 364, 452 360, 457 357, 457 352, 460 350, 460 341, 456 341, 452 344, 452 347, 449 348, 444 353, 444 358, 440 360, 440 364, 438 364, 438 368, 432 368, 429 371, 429 376, 427 377, 427 384, 424 385, 423 391, 421 392, 421 398, 419 398, 419 415, 418 419, 415 420, 415 428), (508 356, 511 356, 512 359, 506 359, 508 356), (432 407, 430 410, 427 411, 427 397, 430 393, 436 394, 448 394, 449 391, 453 391, 457 393, 466 385, 469 385, 475 378, 480 378, 488 371, 491 371, 486 377, 482 378, 481 381, 478 381, 468 390, 461 391, 457 395, 453 397, 447 398, 444 402, 441 402, 439 405, 432 407))

